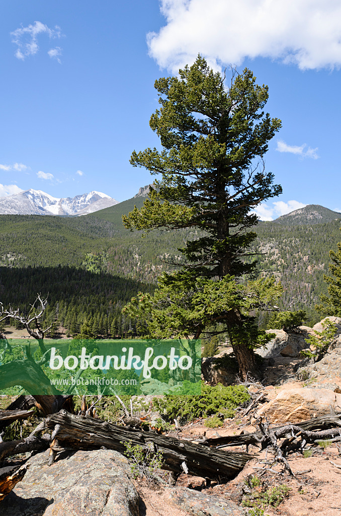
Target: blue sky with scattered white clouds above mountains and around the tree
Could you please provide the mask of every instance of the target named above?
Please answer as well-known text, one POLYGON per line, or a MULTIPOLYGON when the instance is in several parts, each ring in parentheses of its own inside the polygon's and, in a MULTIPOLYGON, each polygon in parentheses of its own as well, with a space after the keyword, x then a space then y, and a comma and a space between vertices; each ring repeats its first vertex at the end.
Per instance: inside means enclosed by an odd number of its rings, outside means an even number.
POLYGON ((0 196, 135 195, 151 176, 130 154, 158 145, 154 81, 200 52, 216 70, 250 68, 282 120, 266 169, 283 195, 261 218, 304 204, 341 212, 340 41, 335 0, 3 2, 0 196))

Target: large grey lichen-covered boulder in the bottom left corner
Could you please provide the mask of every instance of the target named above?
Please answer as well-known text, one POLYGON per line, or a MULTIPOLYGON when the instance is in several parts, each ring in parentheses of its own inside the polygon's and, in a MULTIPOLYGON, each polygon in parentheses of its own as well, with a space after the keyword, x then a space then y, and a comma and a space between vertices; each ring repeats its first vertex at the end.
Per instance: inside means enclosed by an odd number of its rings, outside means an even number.
POLYGON ((139 516, 128 460, 113 450, 60 454, 28 461, 24 479, 0 506, 1 516, 139 516))

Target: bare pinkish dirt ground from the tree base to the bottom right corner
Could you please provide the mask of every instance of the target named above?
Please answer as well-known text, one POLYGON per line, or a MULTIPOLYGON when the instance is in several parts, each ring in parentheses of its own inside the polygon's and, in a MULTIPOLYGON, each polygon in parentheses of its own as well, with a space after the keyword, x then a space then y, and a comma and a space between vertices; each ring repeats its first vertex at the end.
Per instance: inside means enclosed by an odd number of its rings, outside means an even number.
MULTIPOLYGON (((293 358, 279 358, 276 364, 267 369, 265 381, 265 397, 274 399, 281 390, 296 389, 302 387, 304 382, 298 381, 293 371, 293 365, 299 360, 293 358)), ((258 406, 260 408, 261 405, 258 406)), ((223 437, 238 435, 244 431, 253 432, 255 427, 251 425, 251 415, 227 420, 224 427, 211 429, 204 426, 204 420, 198 420, 182 427, 179 438, 187 438, 195 441, 202 436, 223 437)), ((226 447, 226 450, 246 451, 246 447, 226 447)), ((260 468, 264 467, 260 461, 265 459, 265 450, 258 446, 249 446, 249 453, 255 454, 255 459, 248 462, 244 470, 233 480, 218 485, 213 483, 206 486, 206 481, 200 477, 180 475, 177 485, 200 491, 206 496, 219 496, 240 505, 246 481, 250 476, 258 476, 261 487, 258 490, 266 490, 274 486, 286 485, 289 488, 288 496, 277 508, 263 507, 264 516, 340 516, 341 515, 341 455, 335 445, 325 449, 313 446, 310 457, 304 457, 301 452, 290 453, 288 462, 295 476, 287 472, 282 473, 282 467, 275 466, 275 473, 264 473, 260 468), (336 465, 335 465, 336 464, 336 465), (340 468, 337 467, 340 466, 340 468)), ((268 452, 267 459, 271 458, 268 452)), ((148 486, 139 481, 137 488, 141 496, 141 516, 189 516, 181 508, 167 506, 166 490, 162 487, 148 486)), ((257 491, 257 489, 256 489, 257 491)), ((248 508, 245 508, 247 514, 248 508)), ((255 514, 261 515, 262 512, 255 514)))

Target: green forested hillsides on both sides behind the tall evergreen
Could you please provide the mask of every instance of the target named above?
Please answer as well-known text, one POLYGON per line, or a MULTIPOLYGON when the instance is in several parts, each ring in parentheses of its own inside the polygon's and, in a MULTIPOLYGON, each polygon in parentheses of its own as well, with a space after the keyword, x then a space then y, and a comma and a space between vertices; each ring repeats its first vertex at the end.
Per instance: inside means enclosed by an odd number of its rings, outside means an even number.
MULTIPOLYGON (((95 334, 143 332, 143 322, 139 327, 122 317, 123 304, 139 290, 152 290, 160 272, 180 262, 178 248, 196 237, 190 230, 154 231, 145 237, 125 230, 122 214, 144 199, 82 217, 0 216, 0 300, 24 309, 37 292, 49 292, 46 317, 58 318, 71 334, 85 319, 95 334)), ((263 253, 259 273, 274 274, 283 284, 281 307, 307 309, 315 320, 314 305, 327 291, 323 273, 328 273, 329 250, 341 239, 341 220, 319 223, 321 216, 336 212, 321 206, 302 209, 260 222, 254 250, 263 253)))

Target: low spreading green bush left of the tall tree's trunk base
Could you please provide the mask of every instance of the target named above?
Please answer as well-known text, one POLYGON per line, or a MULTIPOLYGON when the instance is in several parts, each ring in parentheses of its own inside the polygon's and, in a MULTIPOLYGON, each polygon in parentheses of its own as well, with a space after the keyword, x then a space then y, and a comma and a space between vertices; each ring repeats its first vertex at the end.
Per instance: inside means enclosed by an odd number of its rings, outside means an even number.
POLYGON ((193 421, 197 417, 222 414, 233 417, 237 407, 250 399, 243 385, 215 386, 202 385, 201 394, 196 396, 166 395, 154 398, 154 406, 169 421, 179 418, 182 422, 193 421))

